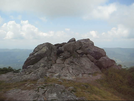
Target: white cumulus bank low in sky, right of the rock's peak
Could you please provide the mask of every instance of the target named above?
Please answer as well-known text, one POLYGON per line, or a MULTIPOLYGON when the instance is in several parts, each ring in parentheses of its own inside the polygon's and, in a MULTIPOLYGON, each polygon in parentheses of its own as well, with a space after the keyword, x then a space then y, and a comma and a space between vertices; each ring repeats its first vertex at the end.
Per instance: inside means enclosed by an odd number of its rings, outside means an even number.
POLYGON ((113 27, 110 31, 99 33, 97 31, 90 31, 82 35, 83 38, 89 37, 93 40, 101 41, 113 41, 113 40, 122 40, 122 39, 134 39, 134 36, 131 34, 131 30, 126 28, 123 25, 118 25, 113 27))

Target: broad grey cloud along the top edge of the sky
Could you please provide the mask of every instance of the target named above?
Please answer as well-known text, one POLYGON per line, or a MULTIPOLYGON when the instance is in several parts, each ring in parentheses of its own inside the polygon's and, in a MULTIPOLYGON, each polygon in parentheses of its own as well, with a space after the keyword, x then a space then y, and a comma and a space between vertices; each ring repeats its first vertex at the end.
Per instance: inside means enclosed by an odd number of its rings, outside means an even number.
POLYGON ((81 16, 107 0, 0 0, 4 12, 33 12, 49 17, 81 16))

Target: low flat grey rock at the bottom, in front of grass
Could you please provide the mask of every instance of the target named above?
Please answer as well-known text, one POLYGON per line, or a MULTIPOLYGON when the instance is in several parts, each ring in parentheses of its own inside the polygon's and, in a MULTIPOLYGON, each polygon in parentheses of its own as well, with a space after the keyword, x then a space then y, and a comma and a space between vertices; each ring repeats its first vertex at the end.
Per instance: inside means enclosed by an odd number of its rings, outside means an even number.
POLYGON ((49 84, 42 85, 33 90, 12 89, 6 93, 6 101, 79 101, 74 94, 65 89, 63 85, 49 84))

